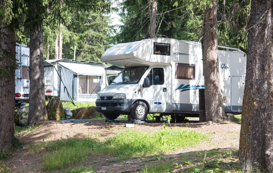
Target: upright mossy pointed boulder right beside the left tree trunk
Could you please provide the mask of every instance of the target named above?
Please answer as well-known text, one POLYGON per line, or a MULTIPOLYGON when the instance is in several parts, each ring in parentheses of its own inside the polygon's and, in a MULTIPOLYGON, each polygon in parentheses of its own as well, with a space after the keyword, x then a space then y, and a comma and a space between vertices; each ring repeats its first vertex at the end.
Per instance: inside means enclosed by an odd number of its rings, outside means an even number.
POLYGON ((59 97, 53 96, 47 103, 47 116, 48 120, 61 120, 65 118, 65 111, 59 97))

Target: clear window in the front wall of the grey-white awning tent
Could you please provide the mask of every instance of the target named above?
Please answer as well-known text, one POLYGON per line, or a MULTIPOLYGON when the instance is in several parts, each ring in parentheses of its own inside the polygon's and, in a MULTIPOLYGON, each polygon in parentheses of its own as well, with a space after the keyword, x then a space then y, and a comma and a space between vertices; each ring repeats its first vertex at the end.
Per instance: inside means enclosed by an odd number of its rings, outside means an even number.
POLYGON ((79 94, 97 94, 101 91, 100 79, 97 76, 79 76, 79 94))

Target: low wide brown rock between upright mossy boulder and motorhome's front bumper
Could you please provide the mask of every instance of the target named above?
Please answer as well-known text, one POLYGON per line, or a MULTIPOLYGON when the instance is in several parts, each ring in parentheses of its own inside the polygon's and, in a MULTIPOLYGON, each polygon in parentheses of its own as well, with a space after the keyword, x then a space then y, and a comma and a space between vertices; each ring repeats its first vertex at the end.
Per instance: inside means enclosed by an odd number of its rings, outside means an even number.
POLYGON ((73 116, 70 119, 92 119, 96 115, 102 115, 100 112, 96 111, 95 106, 91 106, 88 108, 78 108, 71 111, 73 116))

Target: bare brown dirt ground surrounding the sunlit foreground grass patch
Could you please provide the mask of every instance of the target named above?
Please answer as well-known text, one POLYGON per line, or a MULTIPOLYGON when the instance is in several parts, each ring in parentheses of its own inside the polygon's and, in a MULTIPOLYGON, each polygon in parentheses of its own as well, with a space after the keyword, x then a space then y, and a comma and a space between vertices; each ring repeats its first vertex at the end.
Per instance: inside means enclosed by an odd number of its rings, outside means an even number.
MULTIPOLYGON (((104 122, 104 120, 88 120, 87 122, 71 122, 71 121, 45 121, 43 126, 31 134, 17 134, 17 137, 24 142, 24 147, 14 151, 12 156, 4 161, 14 172, 44 172, 42 157, 43 152, 31 154, 26 150, 26 146, 42 141, 52 141, 58 139, 66 139, 73 137, 94 137, 104 139, 110 137, 114 133, 127 130, 126 121, 119 123, 104 122)), ((134 124, 137 131, 157 131, 162 128, 162 123, 134 124)), ((199 143, 197 146, 187 147, 165 153, 166 158, 176 160, 183 154, 189 154, 193 151, 204 151, 221 148, 222 150, 239 148, 240 124, 233 122, 221 123, 199 123, 191 121, 187 123, 169 124, 172 128, 187 127, 195 131, 204 132, 211 135, 211 140, 199 143), (170 157, 171 156, 171 157, 170 157)), ((147 158, 128 159, 119 162, 113 162, 111 156, 89 156, 88 163, 92 163, 95 172, 137 172, 145 168, 143 160, 147 158)), ((150 161, 145 164, 160 164, 162 161, 150 161)), ((166 162, 166 161, 165 161, 166 162)), ((53 172, 62 172, 57 170, 53 172)))

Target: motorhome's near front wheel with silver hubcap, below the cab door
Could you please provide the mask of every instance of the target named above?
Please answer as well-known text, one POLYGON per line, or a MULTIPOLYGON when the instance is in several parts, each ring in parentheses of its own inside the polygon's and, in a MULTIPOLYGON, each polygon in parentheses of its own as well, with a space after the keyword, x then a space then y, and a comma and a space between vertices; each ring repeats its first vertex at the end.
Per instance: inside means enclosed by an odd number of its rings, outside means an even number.
POLYGON ((136 120, 145 120, 148 115, 148 107, 143 102, 136 102, 131 107, 130 115, 136 120))

